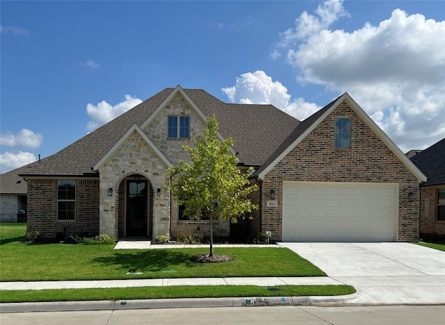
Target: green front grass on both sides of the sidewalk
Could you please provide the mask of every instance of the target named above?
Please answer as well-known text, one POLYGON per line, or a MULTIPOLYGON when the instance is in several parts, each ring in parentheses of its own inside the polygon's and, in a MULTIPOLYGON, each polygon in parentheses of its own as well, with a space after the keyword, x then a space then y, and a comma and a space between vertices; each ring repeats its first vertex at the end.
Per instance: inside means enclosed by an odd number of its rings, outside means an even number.
MULTIPOLYGON (((26 225, 0 225, 0 281, 105 280, 229 276, 325 276, 284 248, 215 249, 229 263, 195 264, 189 258, 208 249, 117 250, 114 245, 26 244, 26 225), (144 272, 127 275, 130 270, 144 272)), ((145 288, 3 290, 0 302, 88 301, 196 297, 335 296, 355 292, 349 285, 200 285, 145 288)))

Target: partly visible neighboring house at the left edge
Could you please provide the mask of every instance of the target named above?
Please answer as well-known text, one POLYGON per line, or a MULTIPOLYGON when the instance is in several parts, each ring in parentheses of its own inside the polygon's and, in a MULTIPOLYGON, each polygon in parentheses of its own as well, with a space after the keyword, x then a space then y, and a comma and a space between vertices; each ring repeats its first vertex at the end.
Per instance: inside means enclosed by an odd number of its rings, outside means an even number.
POLYGON ((19 174, 25 167, 0 174, 0 221, 24 222, 26 213, 26 181, 19 174))

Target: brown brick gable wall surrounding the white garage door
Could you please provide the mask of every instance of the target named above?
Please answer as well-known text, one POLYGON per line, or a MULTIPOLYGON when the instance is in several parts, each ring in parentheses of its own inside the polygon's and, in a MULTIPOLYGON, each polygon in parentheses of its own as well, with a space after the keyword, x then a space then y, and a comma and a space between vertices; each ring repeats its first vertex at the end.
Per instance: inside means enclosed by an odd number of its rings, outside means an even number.
MULTIPOLYGON (((282 182, 398 183, 398 241, 419 238, 419 183, 378 135, 343 101, 309 133, 263 180, 261 228, 282 240, 282 182), (335 117, 350 117, 350 149, 334 148, 335 117), (268 208, 275 190, 277 208, 268 208), (415 201, 408 202, 408 192, 415 201)), ((257 230, 256 230, 257 231, 257 230)))

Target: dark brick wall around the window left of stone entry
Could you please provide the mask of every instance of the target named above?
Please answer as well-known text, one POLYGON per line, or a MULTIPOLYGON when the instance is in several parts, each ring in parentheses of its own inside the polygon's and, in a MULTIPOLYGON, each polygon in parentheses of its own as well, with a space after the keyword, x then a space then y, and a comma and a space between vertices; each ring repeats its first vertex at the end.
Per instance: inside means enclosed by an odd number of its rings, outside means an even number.
POLYGON ((28 179, 27 231, 40 231, 40 237, 99 235, 99 180, 76 179, 76 217, 57 218, 57 179, 28 179))

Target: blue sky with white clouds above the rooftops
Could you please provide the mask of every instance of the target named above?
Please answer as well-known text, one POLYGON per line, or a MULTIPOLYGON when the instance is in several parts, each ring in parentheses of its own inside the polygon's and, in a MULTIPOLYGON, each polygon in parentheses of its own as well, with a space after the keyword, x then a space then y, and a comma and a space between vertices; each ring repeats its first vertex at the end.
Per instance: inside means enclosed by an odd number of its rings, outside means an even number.
POLYGON ((445 1, 0 1, 0 172, 164 88, 300 120, 348 92, 405 153, 445 138, 445 1))

